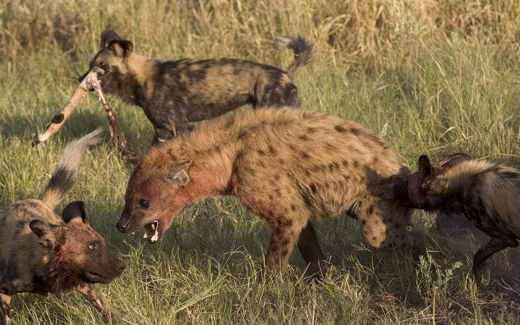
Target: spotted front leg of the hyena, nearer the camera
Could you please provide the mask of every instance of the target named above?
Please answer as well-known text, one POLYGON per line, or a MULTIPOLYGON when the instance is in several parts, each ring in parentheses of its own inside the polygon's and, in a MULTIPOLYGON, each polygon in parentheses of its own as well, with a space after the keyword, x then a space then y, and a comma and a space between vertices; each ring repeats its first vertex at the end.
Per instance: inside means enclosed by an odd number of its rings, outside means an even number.
POLYGON ((300 238, 302 229, 307 226, 308 218, 271 216, 266 219, 271 229, 271 241, 266 253, 267 268, 281 273, 287 268, 294 245, 300 238))

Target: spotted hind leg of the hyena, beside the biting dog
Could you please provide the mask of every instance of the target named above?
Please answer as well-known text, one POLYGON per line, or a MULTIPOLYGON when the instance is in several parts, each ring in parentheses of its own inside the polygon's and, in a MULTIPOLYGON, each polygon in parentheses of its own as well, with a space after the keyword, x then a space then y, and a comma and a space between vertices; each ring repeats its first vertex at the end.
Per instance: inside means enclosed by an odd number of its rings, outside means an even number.
POLYGON ((410 209, 385 200, 367 200, 356 211, 365 241, 380 250, 405 249, 412 251, 415 261, 426 255, 424 235, 410 231, 410 209))

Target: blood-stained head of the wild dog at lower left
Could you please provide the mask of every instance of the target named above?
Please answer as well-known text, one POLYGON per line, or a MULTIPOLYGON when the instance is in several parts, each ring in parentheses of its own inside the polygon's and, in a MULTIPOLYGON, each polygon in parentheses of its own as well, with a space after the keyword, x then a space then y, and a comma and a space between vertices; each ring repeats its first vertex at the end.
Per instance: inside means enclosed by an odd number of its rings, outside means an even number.
POLYGON ((38 241, 50 250, 49 272, 62 283, 109 283, 121 275, 126 265, 110 252, 107 242, 89 224, 82 201, 69 203, 63 210, 65 224, 54 225, 32 220, 38 241))

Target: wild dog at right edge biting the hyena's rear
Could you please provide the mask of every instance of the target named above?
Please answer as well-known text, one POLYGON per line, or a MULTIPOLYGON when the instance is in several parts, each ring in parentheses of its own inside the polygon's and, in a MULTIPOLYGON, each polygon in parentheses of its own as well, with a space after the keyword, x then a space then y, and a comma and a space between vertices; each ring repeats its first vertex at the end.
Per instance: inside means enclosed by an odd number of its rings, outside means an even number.
POLYGON ((518 246, 520 172, 513 168, 464 153, 452 154, 432 167, 428 157, 421 155, 417 172, 397 178, 395 196, 417 209, 464 214, 491 237, 473 257, 477 284, 489 257, 518 246))

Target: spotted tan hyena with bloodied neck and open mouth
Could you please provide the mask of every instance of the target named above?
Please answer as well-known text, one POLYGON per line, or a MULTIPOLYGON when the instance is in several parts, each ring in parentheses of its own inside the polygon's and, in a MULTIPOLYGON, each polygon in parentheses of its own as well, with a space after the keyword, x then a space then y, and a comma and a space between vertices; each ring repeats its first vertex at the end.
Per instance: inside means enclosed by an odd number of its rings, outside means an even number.
POLYGON ((403 167, 383 139, 327 113, 237 112, 150 148, 128 181, 116 227, 145 227, 144 237, 156 242, 188 203, 231 195, 271 230, 269 268, 282 270, 297 244, 316 274, 324 255, 310 220, 344 212, 359 220, 374 248, 425 254, 422 233, 407 228, 411 210, 385 199, 381 180, 403 167))

